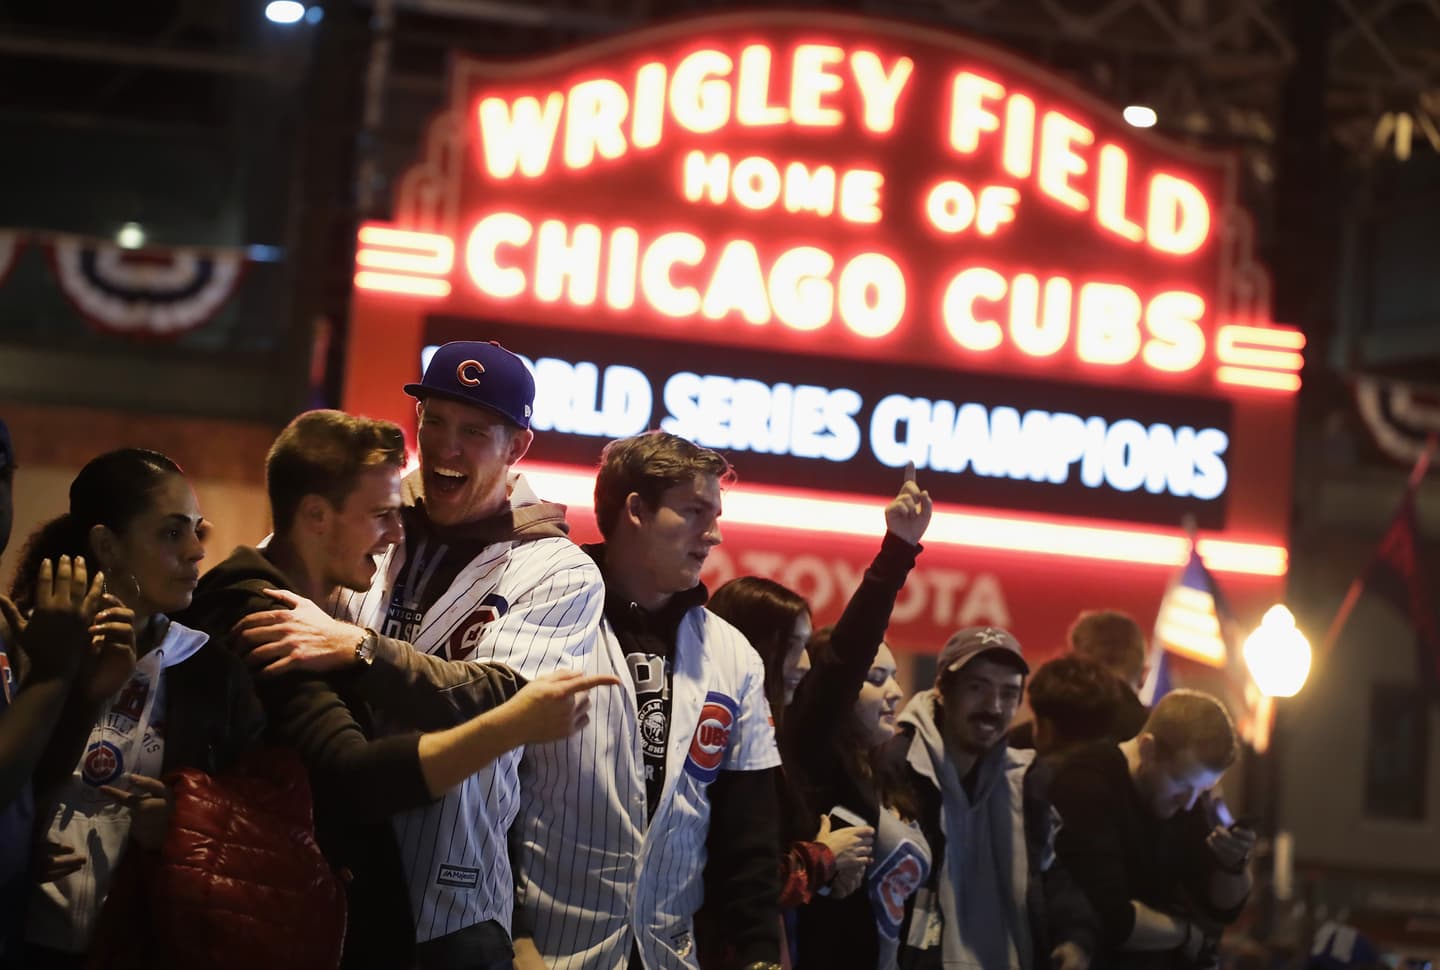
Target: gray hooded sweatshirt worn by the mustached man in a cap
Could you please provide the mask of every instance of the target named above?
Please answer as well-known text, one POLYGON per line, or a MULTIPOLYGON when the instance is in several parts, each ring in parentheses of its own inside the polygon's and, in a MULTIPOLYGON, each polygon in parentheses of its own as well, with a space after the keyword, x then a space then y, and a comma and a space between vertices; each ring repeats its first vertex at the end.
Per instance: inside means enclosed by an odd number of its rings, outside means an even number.
POLYGON ((1022 786, 1035 753, 996 744, 975 766, 972 800, 945 757, 935 692, 912 698, 900 722, 914 728, 910 767, 940 792, 946 855, 933 862, 939 898, 916 898, 909 946, 930 948, 939 937, 945 967, 1034 967, 1022 786))

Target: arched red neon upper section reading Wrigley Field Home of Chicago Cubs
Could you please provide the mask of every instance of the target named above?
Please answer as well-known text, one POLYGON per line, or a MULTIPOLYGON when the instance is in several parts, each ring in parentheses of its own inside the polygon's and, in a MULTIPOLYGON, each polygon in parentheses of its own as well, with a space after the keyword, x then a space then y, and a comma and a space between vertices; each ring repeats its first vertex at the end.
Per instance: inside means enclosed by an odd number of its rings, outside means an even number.
POLYGON ((449 314, 1189 394, 1299 386, 1225 160, 962 39, 714 17, 518 65, 360 232, 449 314))

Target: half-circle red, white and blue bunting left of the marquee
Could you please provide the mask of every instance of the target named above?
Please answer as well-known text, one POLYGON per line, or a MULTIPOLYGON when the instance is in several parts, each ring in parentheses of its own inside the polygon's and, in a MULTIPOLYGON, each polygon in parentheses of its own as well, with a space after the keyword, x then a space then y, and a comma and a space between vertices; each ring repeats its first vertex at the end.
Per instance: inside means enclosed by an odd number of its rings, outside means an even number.
POLYGON ((79 236, 50 237, 65 298, 102 330, 177 337, 206 322, 240 279, 240 249, 121 249, 79 236))

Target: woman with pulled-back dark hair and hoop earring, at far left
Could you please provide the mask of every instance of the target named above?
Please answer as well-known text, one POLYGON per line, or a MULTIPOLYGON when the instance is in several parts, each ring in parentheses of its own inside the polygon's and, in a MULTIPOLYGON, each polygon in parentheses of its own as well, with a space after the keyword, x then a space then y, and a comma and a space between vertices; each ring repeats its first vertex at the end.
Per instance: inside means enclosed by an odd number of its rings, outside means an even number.
POLYGON ((105 574, 112 606, 96 622, 109 649, 82 671, 36 771, 48 858, 26 928, 32 967, 84 966, 130 843, 164 840, 171 794, 160 776, 213 774, 262 727, 239 661, 168 619, 190 603, 209 530, 180 466, 108 452, 81 469, 69 499, 30 540, 13 597, 27 612, 39 563, 84 556, 105 574))

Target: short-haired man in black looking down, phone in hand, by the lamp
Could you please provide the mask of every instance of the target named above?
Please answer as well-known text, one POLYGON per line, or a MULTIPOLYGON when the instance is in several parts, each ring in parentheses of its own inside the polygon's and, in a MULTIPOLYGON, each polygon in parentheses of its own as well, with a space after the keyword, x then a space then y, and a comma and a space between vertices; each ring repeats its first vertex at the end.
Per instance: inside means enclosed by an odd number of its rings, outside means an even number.
POLYGON ((1106 966, 1214 963, 1250 895, 1256 833, 1223 823, 1211 796, 1238 748, 1220 701, 1171 691, 1136 737, 1076 748, 1057 769, 1058 851, 1100 917, 1106 966))

